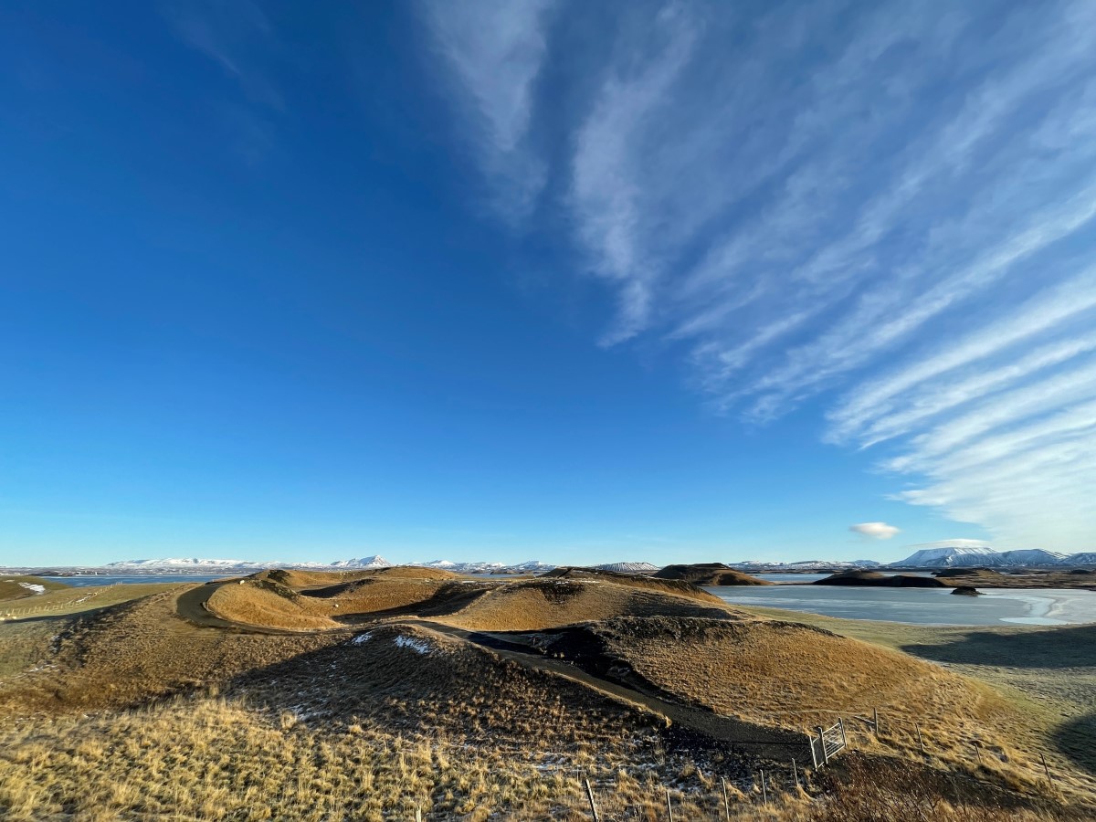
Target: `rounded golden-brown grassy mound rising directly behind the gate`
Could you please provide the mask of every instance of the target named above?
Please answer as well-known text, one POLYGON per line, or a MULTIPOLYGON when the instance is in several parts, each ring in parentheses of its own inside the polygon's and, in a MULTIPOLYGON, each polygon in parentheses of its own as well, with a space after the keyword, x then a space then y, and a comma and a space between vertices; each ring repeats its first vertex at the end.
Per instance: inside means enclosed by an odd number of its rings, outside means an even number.
POLYGON ((617 617, 575 626, 547 649, 600 657, 682 701, 763 724, 810 728, 872 708, 895 723, 900 716, 923 723, 948 717, 949 735, 1015 720, 980 683, 795 623, 617 617))

